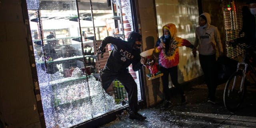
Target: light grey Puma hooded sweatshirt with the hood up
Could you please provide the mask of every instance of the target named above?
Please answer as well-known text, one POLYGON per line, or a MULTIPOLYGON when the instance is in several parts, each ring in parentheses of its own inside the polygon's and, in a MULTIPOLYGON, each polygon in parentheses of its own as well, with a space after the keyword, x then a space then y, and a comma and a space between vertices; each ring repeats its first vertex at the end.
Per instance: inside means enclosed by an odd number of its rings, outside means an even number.
POLYGON ((207 23, 205 28, 200 26, 196 28, 194 46, 198 47, 198 52, 201 55, 213 55, 216 54, 216 50, 218 50, 219 54, 222 54, 223 49, 218 28, 211 25, 210 14, 204 12, 201 15, 206 17, 207 23))

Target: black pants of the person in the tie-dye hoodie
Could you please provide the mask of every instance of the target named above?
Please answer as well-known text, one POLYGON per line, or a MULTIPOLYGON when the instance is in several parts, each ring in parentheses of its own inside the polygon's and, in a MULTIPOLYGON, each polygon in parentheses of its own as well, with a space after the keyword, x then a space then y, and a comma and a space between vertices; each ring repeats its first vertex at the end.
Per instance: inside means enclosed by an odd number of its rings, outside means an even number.
POLYGON ((164 68, 160 66, 160 71, 164 74, 162 76, 163 90, 166 100, 170 100, 170 89, 169 89, 169 74, 171 75, 172 84, 177 89, 178 93, 183 96, 184 90, 178 83, 178 66, 172 68, 164 68))

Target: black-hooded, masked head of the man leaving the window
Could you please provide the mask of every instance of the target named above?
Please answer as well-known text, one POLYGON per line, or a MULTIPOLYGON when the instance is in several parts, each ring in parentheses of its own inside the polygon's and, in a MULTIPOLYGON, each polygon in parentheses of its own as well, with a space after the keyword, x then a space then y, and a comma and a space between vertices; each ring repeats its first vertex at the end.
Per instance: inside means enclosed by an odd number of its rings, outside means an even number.
POLYGON ((141 42, 141 40, 142 40, 142 36, 138 32, 130 32, 127 38, 128 42, 132 42, 132 47, 137 49, 140 49, 141 44, 136 44, 135 42, 136 41, 141 42))

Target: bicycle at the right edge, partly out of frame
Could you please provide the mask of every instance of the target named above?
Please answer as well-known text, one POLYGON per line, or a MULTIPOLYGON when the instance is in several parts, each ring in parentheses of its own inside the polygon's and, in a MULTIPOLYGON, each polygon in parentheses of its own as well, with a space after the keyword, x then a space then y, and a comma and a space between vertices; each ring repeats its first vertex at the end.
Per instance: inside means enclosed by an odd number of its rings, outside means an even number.
POLYGON ((247 86, 251 84, 247 78, 251 76, 252 80, 256 82, 256 70, 252 66, 252 52, 254 52, 255 46, 241 46, 240 44, 237 46, 244 49, 244 56, 242 62, 238 62, 236 72, 226 82, 223 94, 224 105, 230 111, 236 111, 242 105, 247 86))

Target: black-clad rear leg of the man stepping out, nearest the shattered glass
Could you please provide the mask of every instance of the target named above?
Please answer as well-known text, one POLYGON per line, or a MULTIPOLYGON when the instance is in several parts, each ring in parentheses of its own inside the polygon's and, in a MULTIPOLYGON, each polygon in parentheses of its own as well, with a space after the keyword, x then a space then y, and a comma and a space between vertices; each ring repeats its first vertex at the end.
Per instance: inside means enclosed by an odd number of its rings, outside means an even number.
POLYGON ((100 79, 102 82, 102 87, 106 91, 110 84, 117 78, 118 74, 112 73, 110 70, 104 68, 100 71, 100 79))

